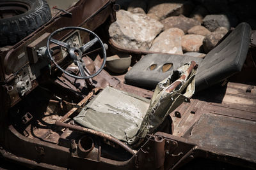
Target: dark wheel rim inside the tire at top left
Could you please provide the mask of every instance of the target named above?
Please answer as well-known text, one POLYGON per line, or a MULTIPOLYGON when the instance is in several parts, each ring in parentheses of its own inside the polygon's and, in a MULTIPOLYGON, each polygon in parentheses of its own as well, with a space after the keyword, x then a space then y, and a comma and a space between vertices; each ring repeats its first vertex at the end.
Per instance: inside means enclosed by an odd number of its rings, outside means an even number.
POLYGON ((0 18, 11 18, 21 15, 30 10, 29 4, 19 2, 3 2, 0 3, 0 18))

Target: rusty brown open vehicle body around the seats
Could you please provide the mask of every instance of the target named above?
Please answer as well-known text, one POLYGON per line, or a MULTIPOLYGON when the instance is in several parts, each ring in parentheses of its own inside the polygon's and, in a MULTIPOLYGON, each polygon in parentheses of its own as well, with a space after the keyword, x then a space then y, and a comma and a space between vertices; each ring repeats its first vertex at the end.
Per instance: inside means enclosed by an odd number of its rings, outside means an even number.
MULTIPOLYGON (((255 169, 255 48, 232 81, 180 104, 141 145, 130 147, 74 122, 81 108, 107 86, 146 99, 153 96, 151 90, 127 85, 124 76, 112 76, 104 69, 92 79, 76 79, 36 58, 36 50, 61 27, 84 27, 107 43, 106 32, 116 20, 117 8, 111 0, 78 1, 67 10, 72 15, 61 11, 19 43, 0 48, 0 158, 36 169, 255 169), (20 80, 28 80, 23 94, 16 88, 20 80)), ((83 31, 64 31, 54 38, 74 35, 83 43, 90 40, 83 31)), ((133 64, 148 53, 108 43, 108 53, 129 53, 133 64)), ((78 73, 61 50, 53 54, 66 71, 78 73)), ((99 46, 84 55, 89 73, 102 65, 101 55, 99 46)))

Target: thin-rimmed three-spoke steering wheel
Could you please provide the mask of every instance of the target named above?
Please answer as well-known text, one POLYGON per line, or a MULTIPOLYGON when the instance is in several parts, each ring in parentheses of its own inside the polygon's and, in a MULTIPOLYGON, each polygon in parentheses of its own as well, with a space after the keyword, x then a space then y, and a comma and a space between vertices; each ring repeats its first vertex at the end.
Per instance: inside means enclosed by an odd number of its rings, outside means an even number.
POLYGON ((99 36, 97 36, 97 34, 95 34, 94 32, 88 30, 88 29, 85 29, 83 27, 63 27, 63 28, 60 28, 60 29, 57 29, 56 31, 52 32, 49 36, 49 38, 47 39, 47 54, 49 56, 49 58, 52 60, 52 62, 55 64, 56 67, 58 67, 58 69, 60 69, 63 73, 67 74, 68 76, 71 76, 73 78, 77 78, 77 79, 88 79, 88 78, 93 78, 94 76, 97 76, 100 71, 102 71, 104 65, 106 64, 106 58, 107 58, 107 55, 106 55, 106 48, 104 46, 104 44, 102 43, 101 39, 99 38, 99 36), (63 41, 59 41, 57 39, 53 39, 52 36, 54 36, 55 34, 58 34, 59 32, 61 31, 65 31, 65 30, 81 30, 81 31, 85 31, 85 32, 89 32, 89 34, 92 34, 94 36, 94 38, 89 41, 88 43, 86 43, 85 45, 81 46, 80 48, 79 47, 76 47, 76 46, 70 46, 68 45, 68 43, 65 43, 63 41), (69 57, 70 59, 72 59, 72 61, 74 62, 74 64, 76 64, 79 68, 79 72, 81 74, 81 76, 76 76, 74 74, 70 74, 68 73, 67 71, 65 71, 65 69, 61 68, 55 61, 54 59, 52 58, 52 55, 51 55, 51 50, 50 50, 50 46, 49 44, 51 43, 54 43, 56 45, 59 45, 59 46, 62 46, 63 48, 66 48, 67 49, 67 52, 69 54, 69 57), (95 43, 99 42, 101 47, 102 47, 102 52, 103 52, 103 62, 102 62, 102 66, 99 68, 98 71, 96 71, 96 73, 90 75, 90 76, 86 76, 86 74, 84 73, 85 69, 84 69, 84 66, 83 66, 83 62, 82 62, 82 55, 84 52, 86 52, 91 46, 93 46, 95 43))

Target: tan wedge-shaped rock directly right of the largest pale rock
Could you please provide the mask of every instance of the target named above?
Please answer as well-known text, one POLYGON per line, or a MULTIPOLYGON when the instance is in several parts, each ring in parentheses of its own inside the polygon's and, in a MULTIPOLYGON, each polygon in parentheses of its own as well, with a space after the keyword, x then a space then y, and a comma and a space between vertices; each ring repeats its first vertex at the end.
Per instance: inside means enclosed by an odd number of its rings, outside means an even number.
POLYGON ((149 50, 152 52, 183 54, 181 48, 182 36, 184 36, 184 32, 181 29, 167 29, 154 39, 149 50))

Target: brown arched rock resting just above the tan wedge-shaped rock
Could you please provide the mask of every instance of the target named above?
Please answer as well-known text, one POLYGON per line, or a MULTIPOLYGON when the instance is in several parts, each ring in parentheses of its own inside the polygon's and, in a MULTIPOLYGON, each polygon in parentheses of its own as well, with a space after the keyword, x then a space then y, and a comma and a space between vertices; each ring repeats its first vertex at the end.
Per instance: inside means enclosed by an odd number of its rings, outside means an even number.
POLYGON ((164 20, 161 20, 161 23, 164 25, 164 30, 177 27, 182 29, 185 33, 187 33, 191 27, 200 25, 200 22, 197 20, 184 17, 183 15, 165 18, 164 20))

